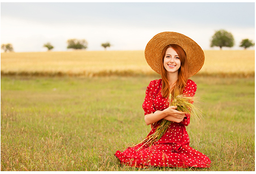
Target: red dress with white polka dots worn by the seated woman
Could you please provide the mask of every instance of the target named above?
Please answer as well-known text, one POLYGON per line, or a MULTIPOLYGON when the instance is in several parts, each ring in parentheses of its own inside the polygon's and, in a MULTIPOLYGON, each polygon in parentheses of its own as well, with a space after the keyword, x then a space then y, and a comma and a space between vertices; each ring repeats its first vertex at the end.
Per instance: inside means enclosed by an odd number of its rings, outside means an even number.
MULTIPOLYGON (((142 105, 145 115, 168 108, 168 99, 162 97, 161 88, 162 79, 151 81, 147 87, 146 97, 142 105)), ((196 83, 188 80, 183 93, 194 96, 196 90, 196 83)), ((151 128, 147 136, 155 132, 160 121, 151 128)), ((210 167, 211 160, 205 154, 189 146, 189 137, 185 128, 189 123, 190 115, 186 114, 182 122, 171 123, 167 132, 153 145, 138 144, 123 152, 116 151, 115 156, 119 158, 121 164, 131 167, 210 167)))

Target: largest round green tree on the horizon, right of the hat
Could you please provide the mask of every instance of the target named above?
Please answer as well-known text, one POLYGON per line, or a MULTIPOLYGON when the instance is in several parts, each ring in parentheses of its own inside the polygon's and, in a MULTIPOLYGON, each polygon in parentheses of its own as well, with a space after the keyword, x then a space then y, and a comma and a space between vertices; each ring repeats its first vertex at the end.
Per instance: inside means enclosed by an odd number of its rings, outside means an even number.
POLYGON ((212 36, 211 39, 211 47, 233 47, 234 46, 234 37, 231 33, 227 32, 226 30, 219 30, 216 31, 215 34, 212 36))

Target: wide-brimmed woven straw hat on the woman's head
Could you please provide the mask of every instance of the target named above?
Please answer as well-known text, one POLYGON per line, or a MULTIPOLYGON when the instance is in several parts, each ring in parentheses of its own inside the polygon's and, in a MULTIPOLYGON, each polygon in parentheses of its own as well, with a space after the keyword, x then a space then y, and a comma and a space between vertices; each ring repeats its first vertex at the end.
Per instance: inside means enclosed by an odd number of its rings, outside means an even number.
POLYGON ((155 35, 145 48, 147 64, 158 74, 162 63, 162 50, 168 44, 177 44, 183 48, 188 61, 188 75, 199 72, 205 62, 205 54, 202 48, 189 37, 176 32, 163 32, 155 35))

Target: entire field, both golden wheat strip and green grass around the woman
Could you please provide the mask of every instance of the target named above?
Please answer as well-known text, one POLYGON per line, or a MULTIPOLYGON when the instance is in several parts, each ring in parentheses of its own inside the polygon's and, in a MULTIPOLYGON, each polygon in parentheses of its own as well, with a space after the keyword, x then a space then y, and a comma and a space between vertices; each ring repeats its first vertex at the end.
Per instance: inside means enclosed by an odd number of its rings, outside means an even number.
MULTIPOLYGON (((255 171, 254 52, 205 51, 192 78, 205 122, 190 146, 211 168, 141 170, 255 171)), ((114 153, 150 131, 142 102, 159 78, 143 51, 1 53, 1 171, 140 170, 114 153)))

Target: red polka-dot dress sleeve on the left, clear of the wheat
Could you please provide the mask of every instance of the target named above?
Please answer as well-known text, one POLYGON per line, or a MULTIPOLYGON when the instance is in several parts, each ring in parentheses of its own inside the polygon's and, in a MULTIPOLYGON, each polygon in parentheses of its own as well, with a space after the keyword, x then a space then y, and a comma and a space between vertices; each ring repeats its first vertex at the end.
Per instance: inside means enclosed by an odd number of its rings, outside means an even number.
POLYGON ((144 109, 144 114, 151 114, 155 112, 154 104, 153 104, 153 81, 149 83, 149 86, 147 86, 146 89, 146 96, 145 100, 143 102, 142 108, 144 109))

